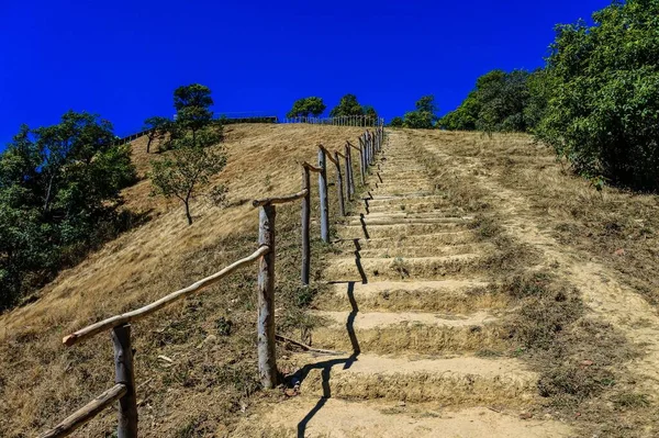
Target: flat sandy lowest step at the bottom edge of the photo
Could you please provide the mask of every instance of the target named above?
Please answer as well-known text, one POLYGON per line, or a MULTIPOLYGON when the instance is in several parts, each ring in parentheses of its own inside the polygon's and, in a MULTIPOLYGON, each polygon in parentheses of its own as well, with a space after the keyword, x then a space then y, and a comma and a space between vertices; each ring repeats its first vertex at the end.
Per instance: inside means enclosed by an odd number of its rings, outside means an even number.
POLYGON ((300 395, 243 419, 241 437, 306 438, 568 438, 563 423, 521 419, 521 409, 477 406, 447 409, 400 401, 347 401, 300 395), (259 424, 260 423, 260 424, 259 424))

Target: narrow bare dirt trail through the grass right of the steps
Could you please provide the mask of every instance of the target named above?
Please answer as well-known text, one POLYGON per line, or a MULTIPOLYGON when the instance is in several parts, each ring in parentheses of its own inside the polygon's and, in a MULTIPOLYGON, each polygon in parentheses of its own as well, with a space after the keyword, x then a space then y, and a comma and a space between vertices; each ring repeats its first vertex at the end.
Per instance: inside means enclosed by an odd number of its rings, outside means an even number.
POLYGON ((591 259, 588 254, 558 243, 547 231, 548 218, 533 214, 528 199, 520 191, 506 189, 477 157, 455 157, 443 149, 436 138, 421 141, 428 154, 444 161, 453 176, 463 178, 467 171, 477 175, 479 186, 488 191, 492 204, 505 217, 506 231, 517 240, 541 252, 541 263, 576 287, 583 295, 589 312, 597 321, 612 324, 625 337, 638 345, 643 355, 627 363, 629 380, 637 391, 659 402, 659 315, 638 292, 618 281, 616 271, 591 259))

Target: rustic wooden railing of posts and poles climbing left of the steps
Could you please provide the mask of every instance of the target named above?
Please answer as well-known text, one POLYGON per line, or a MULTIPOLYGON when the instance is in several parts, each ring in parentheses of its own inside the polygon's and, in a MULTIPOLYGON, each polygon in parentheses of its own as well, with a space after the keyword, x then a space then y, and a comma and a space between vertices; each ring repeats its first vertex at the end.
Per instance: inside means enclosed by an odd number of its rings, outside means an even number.
MULTIPOLYGON (((93 401, 76 411, 57 426, 40 435, 40 438, 66 437, 78 427, 85 425, 96 415, 114 402, 119 401, 118 408, 118 438, 137 437, 137 402, 133 361, 133 349, 131 346, 131 323, 142 319, 169 304, 197 293, 234 271, 258 261, 258 371, 264 388, 270 389, 278 384, 277 362, 275 356, 275 341, 278 335, 275 333, 275 224, 276 205, 302 201, 302 284, 309 284, 311 270, 311 176, 319 175, 319 195, 321 206, 321 238, 330 243, 330 205, 327 200, 327 160, 332 161, 336 170, 336 190, 338 196, 339 214, 346 215, 345 200, 353 200, 355 195, 355 178, 353 175, 351 149, 359 151, 359 172, 362 186, 366 183, 368 167, 375 164, 376 154, 381 150, 384 138, 383 126, 373 131, 367 131, 359 137, 359 147, 346 142, 344 151, 332 153, 325 146, 319 146, 317 167, 303 162, 302 188, 298 193, 279 198, 267 198, 255 200, 254 207, 259 209, 259 237, 258 249, 248 257, 237 260, 221 271, 206 277, 188 288, 172 292, 148 305, 134 311, 115 315, 96 324, 81 328, 63 339, 63 344, 71 347, 82 340, 89 339, 100 333, 110 332, 114 348, 114 386, 103 392, 93 401), (342 172, 342 160, 345 172, 342 172)), ((281 338, 281 337, 280 337, 281 338)), ((295 342, 298 344, 298 342, 295 342)), ((300 344, 299 344, 300 345, 300 344)))

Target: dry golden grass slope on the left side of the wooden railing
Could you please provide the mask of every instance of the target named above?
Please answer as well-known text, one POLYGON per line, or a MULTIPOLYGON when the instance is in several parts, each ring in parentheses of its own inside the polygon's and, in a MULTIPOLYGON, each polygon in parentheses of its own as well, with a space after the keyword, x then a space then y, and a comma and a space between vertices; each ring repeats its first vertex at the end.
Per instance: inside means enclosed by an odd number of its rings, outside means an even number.
MULTIPOLYGON (((227 127, 228 165, 213 183, 228 187, 228 206, 196 203, 192 226, 186 225, 179 204, 148 196, 148 181, 126 189, 126 206, 150 212, 150 221, 62 272, 38 301, 0 316, 0 436, 33 436, 112 384, 109 336, 66 349, 64 335, 144 305, 250 254, 258 218, 248 201, 299 190, 297 162, 313 161, 317 143, 342 147, 360 133, 332 126, 227 127)), ((134 159, 142 175, 150 159, 143 149, 144 142, 136 141, 134 159)), ((312 198, 315 205, 315 193, 312 198)), ((278 322, 297 327, 311 324, 295 310, 304 299, 291 285, 299 276, 299 211, 284 206, 278 212, 278 322)), ((326 249, 314 242, 313 250, 317 277, 326 249)), ((230 424, 253 403, 249 396, 258 388, 255 299, 255 274, 247 269, 134 325, 142 436, 190 436, 186 430, 203 435, 230 424), (231 334, 223 336, 226 321, 231 334), (159 355, 174 364, 158 360, 159 355)), ((80 436, 103 436, 114 423, 110 409, 80 436)))

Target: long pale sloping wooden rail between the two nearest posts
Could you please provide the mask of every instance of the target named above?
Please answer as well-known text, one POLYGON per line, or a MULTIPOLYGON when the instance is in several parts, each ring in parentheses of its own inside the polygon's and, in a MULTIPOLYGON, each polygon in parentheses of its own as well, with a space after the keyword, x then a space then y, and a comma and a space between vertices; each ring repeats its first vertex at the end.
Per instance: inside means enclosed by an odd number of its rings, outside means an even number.
POLYGON ((76 333, 65 336, 64 339, 62 339, 62 342, 64 345, 66 345, 67 347, 70 347, 74 344, 77 344, 83 339, 87 339, 94 335, 98 335, 99 333, 101 333, 103 330, 116 327, 120 324, 126 324, 132 321, 142 319, 143 317, 150 315, 152 313, 154 313, 156 311, 159 311, 160 308, 165 307, 166 305, 169 305, 180 299, 183 299, 194 292, 199 292, 202 289, 205 289, 209 285, 216 283, 222 278, 228 276, 236 269, 242 268, 245 265, 248 265, 248 263, 252 263, 253 261, 258 260, 261 256, 265 256, 269 251, 270 251, 270 247, 263 246, 263 247, 258 248, 250 256, 233 262, 232 265, 222 269, 220 272, 216 272, 210 277, 206 277, 205 279, 199 280, 198 282, 189 285, 186 289, 181 289, 180 291, 172 292, 169 295, 164 296, 158 301, 155 301, 148 305, 145 305, 144 307, 136 308, 132 312, 127 312, 122 315, 112 316, 108 319, 103 319, 101 322, 98 322, 96 324, 87 326, 82 329, 79 329, 76 333))

